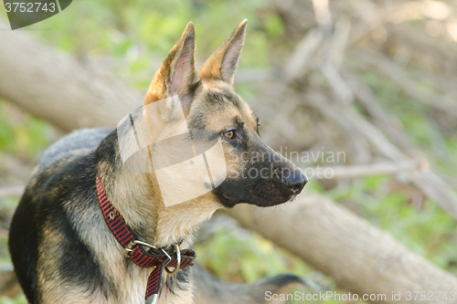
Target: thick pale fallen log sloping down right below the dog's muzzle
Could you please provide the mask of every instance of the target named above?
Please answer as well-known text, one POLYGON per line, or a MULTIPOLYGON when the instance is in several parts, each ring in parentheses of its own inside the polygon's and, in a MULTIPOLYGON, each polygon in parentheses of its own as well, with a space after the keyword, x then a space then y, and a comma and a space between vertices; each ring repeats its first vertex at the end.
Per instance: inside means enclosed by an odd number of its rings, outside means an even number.
MULTIPOLYGON (((266 209, 239 205, 225 212, 330 274, 339 287, 360 296, 386 295, 372 303, 428 303, 408 301, 406 292, 449 294, 457 288, 457 278, 321 195, 305 192, 292 204, 266 209), (401 292, 401 299, 392 299, 392 292, 401 292)), ((433 303, 448 304, 449 300, 433 303)))

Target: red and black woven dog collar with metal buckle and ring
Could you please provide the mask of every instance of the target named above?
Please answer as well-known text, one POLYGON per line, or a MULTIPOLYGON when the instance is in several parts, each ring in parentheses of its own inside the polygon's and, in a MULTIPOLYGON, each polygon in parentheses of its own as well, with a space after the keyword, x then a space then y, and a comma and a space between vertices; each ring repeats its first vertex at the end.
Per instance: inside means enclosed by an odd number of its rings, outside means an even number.
POLYGON ((164 268, 168 273, 175 274, 178 269, 184 269, 194 265, 197 254, 192 249, 180 251, 178 244, 175 244, 175 247, 171 248, 159 248, 136 240, 130 228, 125 224, 122 215, 119 214, 106 196, 98 175, 97 191, 103 217, 106 224, 110 227, 112 234, 124 248, 124 256, 132 258, 133 263, 138 266, 154 267, 153 272, 147 280, 145 299, 158 294, 164 268), (148 247, 148 250, 144 250, 143 246, 148 247), (175 270, 170 271, 167 267, 175 267, 175 270))

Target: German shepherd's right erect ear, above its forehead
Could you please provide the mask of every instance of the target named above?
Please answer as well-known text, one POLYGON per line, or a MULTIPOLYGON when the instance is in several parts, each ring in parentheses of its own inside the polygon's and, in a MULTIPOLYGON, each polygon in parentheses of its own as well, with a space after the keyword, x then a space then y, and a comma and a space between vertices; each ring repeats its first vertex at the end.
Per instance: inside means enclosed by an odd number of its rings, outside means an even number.
POLYGON ((244 19, 198 70, 198 76, 201 79, 219 79, 230 85, 233 84, 233 75, 238 67, 247 22, 248 20, 244 19))

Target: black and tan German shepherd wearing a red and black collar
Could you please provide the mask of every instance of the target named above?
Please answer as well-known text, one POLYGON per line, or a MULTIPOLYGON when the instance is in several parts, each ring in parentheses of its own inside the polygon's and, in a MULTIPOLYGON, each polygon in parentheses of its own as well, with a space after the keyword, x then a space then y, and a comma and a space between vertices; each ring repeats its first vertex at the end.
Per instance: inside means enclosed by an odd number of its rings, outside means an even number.
MULTIPOLYGON (((165 131, 160 120, 165 118, 146 106, 173 96, 179 98, 189 129, 216 134, 227 169, 217 187, 209 186, 207 193, 181 204, 165 205, 154 170, 125 170, 118 130, 74 131, 44 152, 9 233, 16 275, 29 303, 143 304, 150 285, 158 291, 148 300, 157 303, 260 303, 266 290, 301 281, 280 275, 248 285, 226 284, 197 265, 191 267, 193 232, 216 210, 240 203, 282 204, 300 194, 307 182, 292 162, 261 141, 257 117, 232 87, 246 23, 197 71, 190 22, 143 101, 142 115, 149 122, 142 128, 150 129, 148 136, 160 137, 165 131), (241 154, 249 161, 240 161, 241 154), (259 154, 263 157, 253 157, 259 154), (271 174, 243 174, 251 169, 271 174), (102 210, 106 202, 112 212, 102 210), (122 236, 115 235, 117 228, 110 224, 114 220, 140 243, 122 245, 122 236), (136 254, 160 263, 141 266, 133 261, 136 254), (179 264, 181 260, 188 267, 179 264)), ((152 153, 155 148, 147 149, 152 153)), ((179 184, 182 180, 176 176, 168 181, 176 193, 190 191, 179 184)))

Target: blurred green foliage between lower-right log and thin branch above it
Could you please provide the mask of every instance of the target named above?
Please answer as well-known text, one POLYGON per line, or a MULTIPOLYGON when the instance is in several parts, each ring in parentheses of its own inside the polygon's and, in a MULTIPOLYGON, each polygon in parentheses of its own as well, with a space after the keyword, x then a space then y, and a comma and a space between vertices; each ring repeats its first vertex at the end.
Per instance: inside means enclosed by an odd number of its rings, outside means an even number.
POLYGON ((328 192, 335 201, 392 233, 421 256, 457 274, 457 223, 435 202, 414 205, 417 191, 389 176, 371 176, 328 192))

